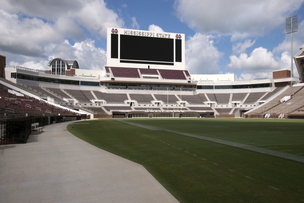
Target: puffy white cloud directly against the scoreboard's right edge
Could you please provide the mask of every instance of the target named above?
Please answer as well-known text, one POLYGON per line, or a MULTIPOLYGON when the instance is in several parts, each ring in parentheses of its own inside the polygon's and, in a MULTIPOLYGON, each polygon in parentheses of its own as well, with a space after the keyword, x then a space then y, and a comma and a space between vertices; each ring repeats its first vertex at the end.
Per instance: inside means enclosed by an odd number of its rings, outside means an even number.
POLYGON ((219 73, 218 61, 222 53, 213 46, 212 36, 195 33, 185 41, 186 69, 192 74, 219 73))

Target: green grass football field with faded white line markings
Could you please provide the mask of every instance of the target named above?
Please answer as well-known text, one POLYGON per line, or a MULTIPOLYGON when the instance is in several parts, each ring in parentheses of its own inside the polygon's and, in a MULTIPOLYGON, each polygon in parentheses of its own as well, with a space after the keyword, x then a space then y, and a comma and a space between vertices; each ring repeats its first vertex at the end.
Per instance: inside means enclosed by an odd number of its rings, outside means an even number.
POLYGON ((86 124, 70 124, 67 129, 77 125, 70 131, 73 135, 140 163, 180 202, 304 202, 303 120, 98 119, 79 123, 86 124), (261 153, 237 145, 254 146, 261 153), (268 155, 269 151, 287 158, 268 155))

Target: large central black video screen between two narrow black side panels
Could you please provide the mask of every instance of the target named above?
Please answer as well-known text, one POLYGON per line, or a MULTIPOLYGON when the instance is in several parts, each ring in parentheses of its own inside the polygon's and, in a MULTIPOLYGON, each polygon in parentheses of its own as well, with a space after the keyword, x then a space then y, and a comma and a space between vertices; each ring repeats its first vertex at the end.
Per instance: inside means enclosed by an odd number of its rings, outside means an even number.
POLYGON ((120 59, 174 62, 174 39, 121 34, 120 59))

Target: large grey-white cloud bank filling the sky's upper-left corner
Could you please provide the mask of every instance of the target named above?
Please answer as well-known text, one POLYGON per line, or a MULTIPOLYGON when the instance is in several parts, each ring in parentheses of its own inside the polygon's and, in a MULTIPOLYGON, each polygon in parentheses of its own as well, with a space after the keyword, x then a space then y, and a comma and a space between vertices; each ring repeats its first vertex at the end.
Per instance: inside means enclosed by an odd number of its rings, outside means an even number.
POLYGON ((85 33, 106 37, 108 26, 124 22, 102 0, 3 0, 0 9, 0 48, 4 52, 45 57, 46 44, 64 39, 85 40, 85 33))

